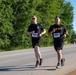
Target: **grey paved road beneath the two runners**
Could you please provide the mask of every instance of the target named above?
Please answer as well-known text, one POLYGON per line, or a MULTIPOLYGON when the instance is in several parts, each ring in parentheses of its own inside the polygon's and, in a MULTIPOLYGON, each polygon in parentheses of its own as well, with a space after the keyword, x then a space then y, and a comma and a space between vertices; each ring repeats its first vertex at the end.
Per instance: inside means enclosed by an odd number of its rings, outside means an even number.
POLYGON ((63 49, 65 66, 56 69, 57 57, 53 47, 41 48, 43 65, 34 68, 33 49, 0 52, 0 75, 66 75, 76 69, 76 44, 63 49))

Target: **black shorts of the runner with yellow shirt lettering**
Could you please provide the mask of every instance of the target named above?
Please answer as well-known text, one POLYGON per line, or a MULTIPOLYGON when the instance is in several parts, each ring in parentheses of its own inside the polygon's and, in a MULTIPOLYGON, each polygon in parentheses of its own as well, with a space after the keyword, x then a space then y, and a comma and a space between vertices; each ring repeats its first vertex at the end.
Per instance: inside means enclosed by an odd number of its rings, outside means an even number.
POLYGON ((62 50, 64 45, 64 39, 56 39, 54 40, 54 48, 55 50, 62 50))

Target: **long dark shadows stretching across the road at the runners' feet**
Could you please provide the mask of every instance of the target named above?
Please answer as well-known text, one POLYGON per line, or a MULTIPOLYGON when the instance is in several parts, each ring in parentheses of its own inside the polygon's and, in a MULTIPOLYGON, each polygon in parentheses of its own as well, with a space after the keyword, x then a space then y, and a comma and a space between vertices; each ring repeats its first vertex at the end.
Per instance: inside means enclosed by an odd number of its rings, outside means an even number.
POLYGON ((39 66, 35 68, 35 65, 24 65, 23 67, 17 66, 1 66, 0 72, 3 71, 38 71, 38 70, 46 70, 46 71, 53 71, 56 70, 55 66, 39 66))

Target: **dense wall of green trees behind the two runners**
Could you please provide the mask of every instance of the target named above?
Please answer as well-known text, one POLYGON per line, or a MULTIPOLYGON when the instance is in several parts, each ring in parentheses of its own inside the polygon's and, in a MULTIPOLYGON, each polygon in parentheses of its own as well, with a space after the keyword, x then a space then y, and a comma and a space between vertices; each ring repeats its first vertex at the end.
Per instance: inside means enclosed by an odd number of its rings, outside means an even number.
MULTIPOLYGON (((61 17, 61 23, 67 26, 69 42, 73 32, 73 7, 64 0, 0 0, 0 49, 30 48, 31 41, 27 28, 31 16, 36 15, 38 22, 45 29, 54 24, 56 15, 61 17)), ((42 46, 52 45, 52 37, 43 35, 42 46)))

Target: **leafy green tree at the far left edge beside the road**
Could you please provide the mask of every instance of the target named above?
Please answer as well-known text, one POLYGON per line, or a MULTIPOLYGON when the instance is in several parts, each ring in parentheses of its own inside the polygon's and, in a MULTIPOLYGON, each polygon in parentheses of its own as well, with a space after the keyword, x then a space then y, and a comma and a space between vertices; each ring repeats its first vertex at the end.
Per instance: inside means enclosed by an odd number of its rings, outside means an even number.
POLYGON ((5 1, 0 1, 0 48, 7 48, 10 46, 9 36, 13 34, 13 10, 5 1))

